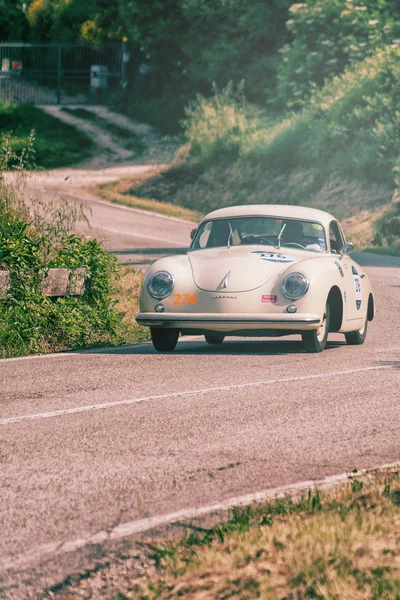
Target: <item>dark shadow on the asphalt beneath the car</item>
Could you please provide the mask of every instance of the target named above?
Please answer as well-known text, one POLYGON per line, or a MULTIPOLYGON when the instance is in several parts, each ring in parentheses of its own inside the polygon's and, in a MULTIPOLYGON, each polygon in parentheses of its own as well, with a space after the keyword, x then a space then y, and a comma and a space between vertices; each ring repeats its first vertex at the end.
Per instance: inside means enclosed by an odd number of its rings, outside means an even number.
MULTIPOLYGON (((346 346, 346 342, 328 342, 325 352, 346 346)), ((232 340, 219 346, 211 346, 204 341, 181 341, 174 352, 157 352, 151 343, 118 346, 116 348, 96 348, 81 350, 79 354, 165 354, 169 356, 213 355, 213 356, 281 356, 285 354, 305 354, 301 341, 232 340)))

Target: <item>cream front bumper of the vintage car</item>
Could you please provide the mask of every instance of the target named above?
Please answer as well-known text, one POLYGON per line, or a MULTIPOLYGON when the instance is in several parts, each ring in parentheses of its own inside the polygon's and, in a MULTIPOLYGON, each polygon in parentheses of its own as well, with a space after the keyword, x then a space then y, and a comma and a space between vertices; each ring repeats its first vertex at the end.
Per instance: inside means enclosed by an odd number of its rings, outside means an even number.
POLYGON ((321 317, 317 314, 252 314, 237 313, 140 313, 139 325, 165 327, 179 330, 207 331, 253 331, 289 330, 307 331, 318 329, 321 317))

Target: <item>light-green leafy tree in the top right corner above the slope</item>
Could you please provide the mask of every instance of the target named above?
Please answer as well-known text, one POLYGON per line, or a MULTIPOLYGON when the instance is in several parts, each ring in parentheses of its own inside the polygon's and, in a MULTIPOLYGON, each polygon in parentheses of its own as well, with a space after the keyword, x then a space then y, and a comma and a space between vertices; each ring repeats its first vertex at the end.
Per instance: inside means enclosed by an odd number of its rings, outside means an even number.
POLYGON ((310 0, 293 4, 286 23, 292 41, 280 49, 277 95, 302 105, 344 68, 400 43, 397 0, 310 0))

